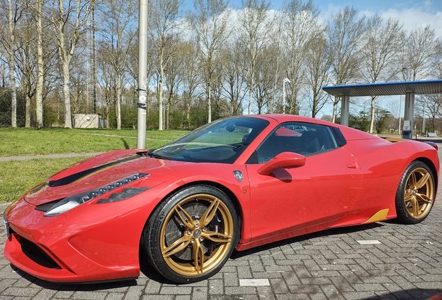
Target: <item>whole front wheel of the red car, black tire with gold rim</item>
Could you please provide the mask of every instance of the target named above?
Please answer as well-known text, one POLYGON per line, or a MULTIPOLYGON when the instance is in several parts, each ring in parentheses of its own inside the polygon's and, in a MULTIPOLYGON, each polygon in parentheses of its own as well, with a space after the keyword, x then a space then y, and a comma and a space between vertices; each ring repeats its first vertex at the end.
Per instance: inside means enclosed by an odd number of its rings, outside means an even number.
POLYGON ((142 240, 158 273, 176 283, 193 283, 222 268, 238 244, 239 232, 229 197, 218 188, 195 185, 156 208, 142 240))

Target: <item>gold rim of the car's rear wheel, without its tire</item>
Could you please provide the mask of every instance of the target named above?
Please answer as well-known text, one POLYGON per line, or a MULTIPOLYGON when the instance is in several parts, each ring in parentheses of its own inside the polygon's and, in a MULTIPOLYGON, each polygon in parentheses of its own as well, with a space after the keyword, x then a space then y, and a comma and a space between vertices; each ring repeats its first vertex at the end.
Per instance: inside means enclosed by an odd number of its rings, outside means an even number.
POLYGON ((405 208, 415 219, 425 217, 432 208, 434 197, 432 176, 427 169, 418 167, 407 178, 404 190, 405 208))

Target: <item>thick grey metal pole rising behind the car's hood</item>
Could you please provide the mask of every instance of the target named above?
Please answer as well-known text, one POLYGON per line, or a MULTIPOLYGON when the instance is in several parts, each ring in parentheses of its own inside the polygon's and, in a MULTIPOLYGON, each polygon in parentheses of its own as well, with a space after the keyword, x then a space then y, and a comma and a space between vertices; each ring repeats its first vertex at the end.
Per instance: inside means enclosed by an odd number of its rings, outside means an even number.
POLYGON ((137 149, 146 148, 146 95, 147 95, 147 4, 140 0, 140 19, 138 20, 138 126, 137 149))

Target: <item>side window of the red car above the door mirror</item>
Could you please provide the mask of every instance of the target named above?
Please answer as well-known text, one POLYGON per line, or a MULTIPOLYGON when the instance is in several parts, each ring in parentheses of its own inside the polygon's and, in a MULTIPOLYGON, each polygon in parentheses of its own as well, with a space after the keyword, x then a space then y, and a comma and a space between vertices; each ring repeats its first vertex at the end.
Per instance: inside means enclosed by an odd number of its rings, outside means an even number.
POLYGON ((267 163, 281 152, 311 156, 340 147, 329 126, 290 122, 278 126, 247 163, 267 163))

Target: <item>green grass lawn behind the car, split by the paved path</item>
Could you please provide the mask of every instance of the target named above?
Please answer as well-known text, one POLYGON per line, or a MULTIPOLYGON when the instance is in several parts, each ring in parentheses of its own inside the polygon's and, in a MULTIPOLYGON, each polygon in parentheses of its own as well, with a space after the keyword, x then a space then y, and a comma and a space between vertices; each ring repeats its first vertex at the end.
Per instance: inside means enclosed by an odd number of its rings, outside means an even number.
MULTIPOLYGON (((146 148, 158 148, 188 131, 147 131, 146 148)), ((135 149, 136 130, 0 128, 0 156, 35 156, 54 153, 90 153, 135 149)), ((10 160, 0 162, 0 203, 85 157, 10 160)))

